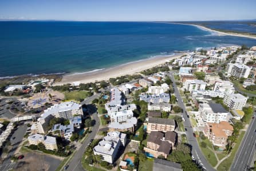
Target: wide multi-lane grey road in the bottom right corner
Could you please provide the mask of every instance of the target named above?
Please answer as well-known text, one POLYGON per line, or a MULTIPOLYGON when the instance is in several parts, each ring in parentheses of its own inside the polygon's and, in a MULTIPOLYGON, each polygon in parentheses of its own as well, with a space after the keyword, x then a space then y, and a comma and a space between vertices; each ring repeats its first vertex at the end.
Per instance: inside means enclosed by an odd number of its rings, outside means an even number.
POLYGON ((255 154, 256 143, 256 118, 253 119, 247 128, 243 141, 239 146, 238 152, 235 156, 233 164, 230 170, 247 170, 247 166, 253 162, 253 156, 255 154))

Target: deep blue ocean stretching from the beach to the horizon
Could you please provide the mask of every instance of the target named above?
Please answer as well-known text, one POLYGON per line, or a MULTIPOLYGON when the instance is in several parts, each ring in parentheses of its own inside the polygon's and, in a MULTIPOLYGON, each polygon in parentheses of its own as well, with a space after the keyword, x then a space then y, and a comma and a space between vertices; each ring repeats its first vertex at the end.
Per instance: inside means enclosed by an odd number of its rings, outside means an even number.
POLYGON ((0 22, 0 77, 76 73, 255 39, 153 22, 0 22))

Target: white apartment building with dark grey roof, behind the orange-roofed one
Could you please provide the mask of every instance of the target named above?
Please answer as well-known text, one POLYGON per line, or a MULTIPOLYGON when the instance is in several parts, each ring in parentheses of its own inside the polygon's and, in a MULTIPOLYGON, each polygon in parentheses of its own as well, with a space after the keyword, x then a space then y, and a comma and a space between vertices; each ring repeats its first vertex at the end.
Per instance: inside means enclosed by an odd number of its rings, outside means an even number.
POLYGON ((200 104, 199 113, 204 123, 219 123, 228 121, 229 112, 218 103, 200 104))

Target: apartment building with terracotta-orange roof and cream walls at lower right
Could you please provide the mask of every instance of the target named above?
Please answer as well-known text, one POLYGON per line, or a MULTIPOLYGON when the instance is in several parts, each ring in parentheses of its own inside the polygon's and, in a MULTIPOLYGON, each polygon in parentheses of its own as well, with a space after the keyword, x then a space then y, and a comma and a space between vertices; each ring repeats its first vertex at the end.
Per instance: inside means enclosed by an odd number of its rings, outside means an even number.
POLYGON ((227 121, 220 123, 206 123, 204 135, 212 142, 213 145, 222 149, 226 148, 227 138, 232 135, 234 128, 227 121))

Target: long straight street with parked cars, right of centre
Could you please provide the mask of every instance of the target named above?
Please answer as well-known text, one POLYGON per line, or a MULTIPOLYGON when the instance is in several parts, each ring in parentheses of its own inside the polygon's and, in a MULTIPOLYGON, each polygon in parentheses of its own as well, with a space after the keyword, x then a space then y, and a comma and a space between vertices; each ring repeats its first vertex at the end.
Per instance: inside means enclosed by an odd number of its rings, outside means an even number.
POLYGON ((214 168, 212 168, 212 166, 208 163, 208 161, 206 160, 206 158, 204 157, 203 153, 201 152, 198 142, 196 141, 195 137, 193 136, 193 128, 191 127, 191 123, 190 123, 190 119, 187 117, 187 111, 186 111, 186 107, 184 105, 184 103, 182 102, 182 97, 180 96, 179 93, 179 89, 175 84, 175 79, 174 79, 174 75, 171 72, 171 74, 169 75, 172 81, 172 85, 174 87, 174 94, 176 96, 176 98, 178 99, 178 105, 180 108, 183 109, 183 117, 185 119, 184 123, 184 127, 187 128, 186 131, 186 135, 187 135, 187 140, 188 140, 188 144, 190 144, 192 146, 192 155, 196 158, 197 161, 199 161, 201 164, 203 164, 203 167, 206 168, 207 171, 211 171, 211 170, 215 170, 214 168))

